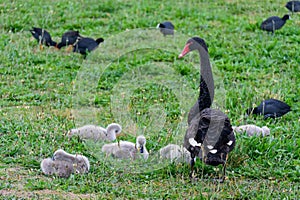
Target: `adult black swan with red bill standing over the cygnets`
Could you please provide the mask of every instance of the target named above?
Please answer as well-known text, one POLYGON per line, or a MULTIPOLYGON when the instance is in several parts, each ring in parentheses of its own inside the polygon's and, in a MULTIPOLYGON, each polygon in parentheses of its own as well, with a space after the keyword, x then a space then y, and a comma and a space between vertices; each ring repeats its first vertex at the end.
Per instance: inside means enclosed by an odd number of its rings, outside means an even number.
POLYGON ((211 71, 208 49, 205 41, 199 37, 189 39, 179 55, 198 50, 200 55, 200 94, 198 101, 189 114, 189 127, 184 137, 183 146, 191 153, 191 173, 193 176, 195 157, 199 157, 208 165, 223 165, 223 175, 220 182, 225 180, 226 161, 228 153, 235 146, 235 135, 229 118, 221 111, 211 109, 214 97, 213 75, 211 71), (198 112, 195 108, 198 105, 198 112))

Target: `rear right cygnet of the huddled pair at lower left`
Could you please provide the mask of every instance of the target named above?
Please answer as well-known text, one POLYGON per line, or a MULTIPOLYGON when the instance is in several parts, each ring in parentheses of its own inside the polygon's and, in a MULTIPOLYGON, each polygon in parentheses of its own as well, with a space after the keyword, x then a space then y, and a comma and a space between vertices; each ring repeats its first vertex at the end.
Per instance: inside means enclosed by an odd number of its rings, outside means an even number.
POLYGON ((59 149, 54 152, 52 159, 55 161, 61 160, 72 163, 76 173, 88 173, 90 170, 90 162, 88 158, 83 155, 72 155, 62 149, 59 149))

